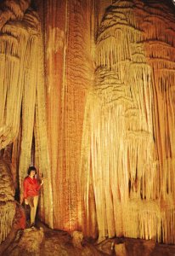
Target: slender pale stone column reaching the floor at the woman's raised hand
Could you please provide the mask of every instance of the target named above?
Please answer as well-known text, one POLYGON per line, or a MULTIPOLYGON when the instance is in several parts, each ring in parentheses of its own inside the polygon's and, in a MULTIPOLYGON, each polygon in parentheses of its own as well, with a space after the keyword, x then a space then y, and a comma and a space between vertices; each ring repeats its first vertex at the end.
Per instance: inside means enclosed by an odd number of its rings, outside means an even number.
POLYGON ((46 118, 46 97, 44 88, 43 53, 42 37, 38 38, 40 48, 37 51, 37 86, 36 95, 36 120, 35 120, 35 162, 39 170, 40 177, 44 177, 42 191, 41 215, 42 219, 51 228, 54 228, 54 210, 53 210, 53 188, 51 182, 51 166, 48 155, 48 134, 46 118))

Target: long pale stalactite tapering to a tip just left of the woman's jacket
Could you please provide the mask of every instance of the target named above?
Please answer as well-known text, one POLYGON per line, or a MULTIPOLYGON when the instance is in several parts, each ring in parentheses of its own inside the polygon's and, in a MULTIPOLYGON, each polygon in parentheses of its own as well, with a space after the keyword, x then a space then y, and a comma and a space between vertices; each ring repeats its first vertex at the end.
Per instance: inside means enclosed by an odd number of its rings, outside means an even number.
POLYGON ((31 164, 31 143, 33 137, 34 115, 37 88, 37 48, 38 38, 36 31, 31 30, 25 48, 25 73, 23 80, 22 97, 22 131, 21 131, 21 153, 20 153, 20 187, 22 196, 22 183, 26 176, 28 166, 31 164), (34 33, 34 35, 32 35, 34 33), (29 125, 30 124, 30 125, 29 125))

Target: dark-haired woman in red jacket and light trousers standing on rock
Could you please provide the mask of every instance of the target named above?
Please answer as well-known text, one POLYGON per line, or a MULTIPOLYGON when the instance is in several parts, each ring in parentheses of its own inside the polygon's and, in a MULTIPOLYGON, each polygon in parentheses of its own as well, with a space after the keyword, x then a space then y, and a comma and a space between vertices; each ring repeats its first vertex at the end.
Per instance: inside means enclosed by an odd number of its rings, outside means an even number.
POLYGON ((35 177, 37 174, 37 169, 34 166, 30 166, 27 173, 28 173, 28 176, 25 177, 25 180, 24 180, 24 199, 25 199, 25 204, 31 207, 31 228, 32 228, 35 226, 38 195, 39 195, 39 190, 42 187, 43 180, 41 184, 37 182, 37 178, 35 177))

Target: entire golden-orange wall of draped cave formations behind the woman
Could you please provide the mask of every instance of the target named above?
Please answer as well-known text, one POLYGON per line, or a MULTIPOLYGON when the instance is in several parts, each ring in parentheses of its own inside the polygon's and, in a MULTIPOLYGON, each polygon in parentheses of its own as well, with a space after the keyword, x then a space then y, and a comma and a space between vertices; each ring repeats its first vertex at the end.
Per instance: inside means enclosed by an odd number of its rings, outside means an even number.
POLYGON ((34 2, 3 10, 0 35, 0 142, 20 194, 35 164, 50 227, 174 243, 173 5, 34 2))

